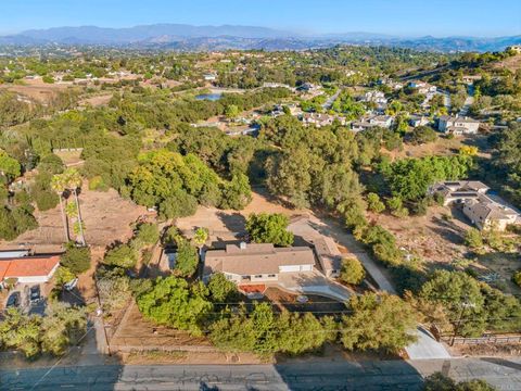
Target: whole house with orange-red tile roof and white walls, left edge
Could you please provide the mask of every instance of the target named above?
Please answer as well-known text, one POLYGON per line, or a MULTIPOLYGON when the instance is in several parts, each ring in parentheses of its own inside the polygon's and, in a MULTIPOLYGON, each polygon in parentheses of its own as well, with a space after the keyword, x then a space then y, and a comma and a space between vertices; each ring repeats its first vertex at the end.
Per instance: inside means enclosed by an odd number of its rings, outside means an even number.
POLYGON ((48 282, 60 266, 60 255, 36 255, 0 260, 0 281, 48 282))

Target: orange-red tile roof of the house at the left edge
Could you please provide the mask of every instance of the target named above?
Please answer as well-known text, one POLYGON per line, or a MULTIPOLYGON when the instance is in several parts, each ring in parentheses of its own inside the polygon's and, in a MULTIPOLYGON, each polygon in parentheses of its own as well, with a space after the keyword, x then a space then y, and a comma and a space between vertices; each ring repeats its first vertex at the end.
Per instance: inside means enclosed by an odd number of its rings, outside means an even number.
POLYGON ((49 276, 59 263, 60 255, 0 260, 0 280, 4 278, 49 276))

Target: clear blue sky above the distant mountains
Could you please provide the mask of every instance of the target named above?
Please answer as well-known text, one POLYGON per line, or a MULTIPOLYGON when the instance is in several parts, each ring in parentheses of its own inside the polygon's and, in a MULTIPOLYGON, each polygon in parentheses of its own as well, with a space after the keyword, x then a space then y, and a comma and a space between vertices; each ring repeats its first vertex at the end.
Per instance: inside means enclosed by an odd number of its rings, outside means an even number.
POLYGON ((0 35, 154 23, 497 37, 521 35, 521 0, 0 0, 0 35))

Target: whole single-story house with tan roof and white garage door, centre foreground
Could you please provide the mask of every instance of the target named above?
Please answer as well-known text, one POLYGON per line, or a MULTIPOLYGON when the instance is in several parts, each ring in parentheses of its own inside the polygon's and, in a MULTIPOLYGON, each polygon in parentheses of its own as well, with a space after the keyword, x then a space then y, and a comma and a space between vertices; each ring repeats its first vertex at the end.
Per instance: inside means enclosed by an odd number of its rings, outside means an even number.
POLYGON ((227 244, 203 256, 203 280, 223 273, 236 283, 277 281, 283 273, 313 272, 315 254, 308 247, 276 248, 271 243, 227 244))

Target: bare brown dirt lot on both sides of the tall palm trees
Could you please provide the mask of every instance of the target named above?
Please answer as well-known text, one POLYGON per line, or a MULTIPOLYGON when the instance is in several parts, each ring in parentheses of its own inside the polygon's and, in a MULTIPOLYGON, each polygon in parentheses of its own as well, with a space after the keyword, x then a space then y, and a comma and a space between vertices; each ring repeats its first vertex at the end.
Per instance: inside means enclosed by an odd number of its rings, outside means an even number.
MULTIPOLYGON (((86 240, 91 245, 105 247, 115 240, 125 241, 132 235, 132 223, 148 213, 144 206, 122 199, 113 189, 106 192, 89 191, 85 186, 79 202, 86 226, 86 240)), ((24 243, 25 247, 42 252, 49 247, 61 245, 64 235, 60 206, 47 212, 37 211, 35 217, 38 228, 11 242, 0 242, 0 249, 13 249, 24 243)))

